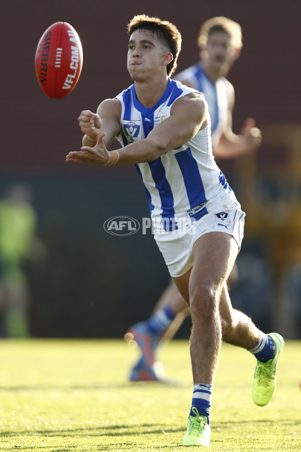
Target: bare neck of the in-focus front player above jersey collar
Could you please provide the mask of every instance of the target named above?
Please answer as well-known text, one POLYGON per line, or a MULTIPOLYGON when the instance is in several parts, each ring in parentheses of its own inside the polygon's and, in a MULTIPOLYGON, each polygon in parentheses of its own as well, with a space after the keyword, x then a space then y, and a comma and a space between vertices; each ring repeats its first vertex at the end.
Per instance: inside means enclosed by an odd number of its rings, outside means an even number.
POLYGON ((169 78, 163 78, 161 80, 149 81, 135 81, 135 92, 138 101, 150 108, 161 99, 167 88, 169 78))

